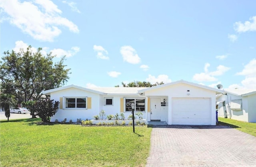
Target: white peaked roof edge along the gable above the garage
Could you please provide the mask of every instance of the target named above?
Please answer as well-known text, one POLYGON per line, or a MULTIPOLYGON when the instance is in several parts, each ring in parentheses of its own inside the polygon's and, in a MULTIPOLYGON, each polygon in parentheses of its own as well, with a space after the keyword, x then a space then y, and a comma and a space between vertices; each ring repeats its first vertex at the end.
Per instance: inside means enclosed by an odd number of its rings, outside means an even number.
POLYGON ((166 86, 170 86, 170 85, 175 85, 175 84, 179 84, 179 83, 189 84, 189 85, 192 85, 192 86, 197 86, 197 87, 208 89, 208 90, 213 90, 213 91, 216 92, 216 94, 224 93, 224 91, 220 90, 220 89, 216 89, 216 88, 212 88, 210 86, 205 86, 205 85, 202 85, 202 84, 196 84, 196 83, 192 83, 192 82, 188 82, 188 81, 184 81, 184 80, 175 81, 175 82, 166 83, 166 84, 161 84, 161 85, 153 86, 153 87, 150 87, 150 88, 145 88, 145 89, 142 89, 142 90, 138 90, 138 92, 142 93, 142 92, 145 92, 145 91, 148 91, 148 90, 154 90, 154 89, 158 89, 158 88, 162 88, 162 87, 166 87, 166 86))

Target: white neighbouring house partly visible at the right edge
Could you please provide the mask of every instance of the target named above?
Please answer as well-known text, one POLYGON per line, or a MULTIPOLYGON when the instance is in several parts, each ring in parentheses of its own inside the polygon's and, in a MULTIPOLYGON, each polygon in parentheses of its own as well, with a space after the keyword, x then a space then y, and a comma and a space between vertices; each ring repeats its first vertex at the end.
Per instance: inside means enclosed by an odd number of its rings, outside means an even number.
POLYGON ((216 96, 219 116, 244 122, 256 122, 256 90, 224 89, 216 96))

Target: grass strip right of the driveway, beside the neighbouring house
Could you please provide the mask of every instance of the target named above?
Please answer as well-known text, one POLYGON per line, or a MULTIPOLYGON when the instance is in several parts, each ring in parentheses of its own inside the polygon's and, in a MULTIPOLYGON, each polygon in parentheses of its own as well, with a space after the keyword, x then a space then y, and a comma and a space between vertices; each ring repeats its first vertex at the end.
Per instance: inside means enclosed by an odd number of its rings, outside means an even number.
POLYGON ((236 128, 237 130, 240 130, 247 134, 256 136, 256 123, 242 122, 242 121, 232 120, 229 118, 218 118, 218 120, 219 120, 219 125, 230 126, 232 128, 236 128))

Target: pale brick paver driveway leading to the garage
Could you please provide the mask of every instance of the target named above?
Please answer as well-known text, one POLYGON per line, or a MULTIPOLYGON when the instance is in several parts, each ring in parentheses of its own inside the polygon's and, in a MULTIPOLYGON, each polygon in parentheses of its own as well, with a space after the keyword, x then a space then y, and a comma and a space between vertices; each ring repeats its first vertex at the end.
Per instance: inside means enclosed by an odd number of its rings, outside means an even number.
POLYGON ((227 126, 153 128, 146 166, 256 166, 256 137, 227 126))

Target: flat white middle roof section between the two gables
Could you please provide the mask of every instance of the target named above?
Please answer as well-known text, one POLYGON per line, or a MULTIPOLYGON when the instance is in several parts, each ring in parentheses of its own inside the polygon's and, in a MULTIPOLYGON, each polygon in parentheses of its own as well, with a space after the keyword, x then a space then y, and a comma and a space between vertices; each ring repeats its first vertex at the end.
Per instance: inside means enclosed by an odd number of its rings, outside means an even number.
POLYGON ((138 90, 144 89, 144 87, 93 87, 90 88, 99 92, 104 92, 108 95, 138 95, 138 90))

